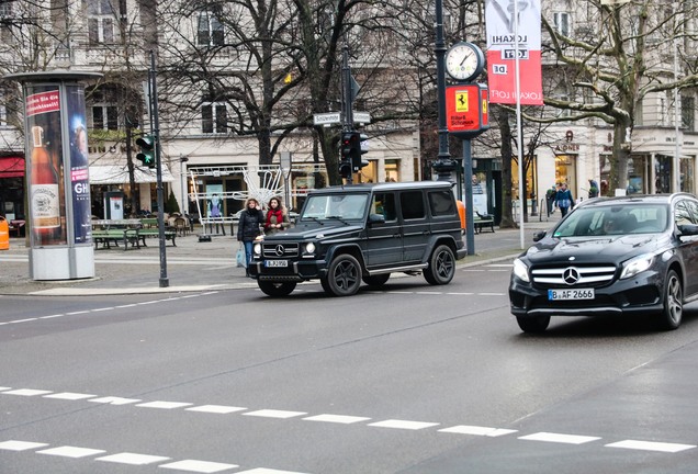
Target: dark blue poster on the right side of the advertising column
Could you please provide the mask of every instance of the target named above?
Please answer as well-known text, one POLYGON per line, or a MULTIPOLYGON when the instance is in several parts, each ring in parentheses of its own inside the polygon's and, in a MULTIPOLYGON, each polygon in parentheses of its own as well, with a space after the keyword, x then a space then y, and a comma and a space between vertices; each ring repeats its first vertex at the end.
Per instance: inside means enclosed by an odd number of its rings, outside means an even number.
POLYGON ((72 187, 72 227, 75 244, 92 241, 92 208, 85 120, 85 88, 66 86, 70 124, 70 185, 72 187))

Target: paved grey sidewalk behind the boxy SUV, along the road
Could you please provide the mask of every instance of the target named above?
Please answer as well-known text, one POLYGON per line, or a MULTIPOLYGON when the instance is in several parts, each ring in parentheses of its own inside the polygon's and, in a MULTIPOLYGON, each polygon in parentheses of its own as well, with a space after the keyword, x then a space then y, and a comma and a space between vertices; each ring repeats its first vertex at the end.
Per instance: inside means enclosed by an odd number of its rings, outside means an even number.
MULTIPOLYGON (((532 244, 537 230, 548 229, 560 219, 560 213, 531 216, 524 226, 525 247, 532 244)), ((511 260, 521 252, 521 233, 499 229, 476 234, 474 255, 459 261, 460 266, 476 266, 511 260)), ((11 237, 10 249, 0 250, 0 295, 97 296, 136 293, 179 293, 257 287, 245 276, 245 269, 235 264, 238 242, 235 237, 213 236, 200 242, 198 234, 177 238, 177 247, 166 246, 166 266, 160 266, 157 239, 148 247, 124 251, 123 247, 94 250, 95 276, 66 281, 34 281, 29 275, 29 248, 24 237, 11 237), (166 272, 160 274, 162 268, 166 272), (160 280, 167 286, 160 285, 160 280)))

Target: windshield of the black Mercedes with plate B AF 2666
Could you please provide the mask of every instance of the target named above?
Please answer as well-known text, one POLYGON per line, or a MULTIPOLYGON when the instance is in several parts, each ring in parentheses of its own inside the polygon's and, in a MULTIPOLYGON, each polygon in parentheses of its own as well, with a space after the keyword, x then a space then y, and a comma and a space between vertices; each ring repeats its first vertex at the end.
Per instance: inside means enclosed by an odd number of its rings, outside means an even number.
POLYGON ((657 234, 668 225, 664 204, 589 205, 575 210, 554 232, 554 237, 657 234))

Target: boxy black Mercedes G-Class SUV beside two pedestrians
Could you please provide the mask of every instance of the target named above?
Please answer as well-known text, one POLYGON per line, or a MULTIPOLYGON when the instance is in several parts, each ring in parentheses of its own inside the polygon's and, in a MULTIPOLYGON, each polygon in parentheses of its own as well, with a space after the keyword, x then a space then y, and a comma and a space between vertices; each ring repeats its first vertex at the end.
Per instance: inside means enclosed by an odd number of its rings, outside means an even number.
POLYGON ((394 272, 447 284, 466 253, 451 188, 419 181, 311 191, 294 227, 255 242, 250 278, 270 296, 316 279, 325 292, 349 296, 361 281, 380 287, 394 272))

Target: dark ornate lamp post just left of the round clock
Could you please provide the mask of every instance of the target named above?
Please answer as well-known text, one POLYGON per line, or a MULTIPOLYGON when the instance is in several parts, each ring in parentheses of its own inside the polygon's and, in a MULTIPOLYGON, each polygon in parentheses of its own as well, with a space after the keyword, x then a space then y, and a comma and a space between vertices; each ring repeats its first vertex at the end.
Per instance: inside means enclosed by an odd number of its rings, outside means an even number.
POLYGON ((434 48, 437 59, 437 97, 439 103, 439 156, 432 168, 439 181, 450 181, 455 161, 449 153, 449 131, 446 126, 446 42, 443 40, 443 0, 436 0, 436 44, 434 48))

